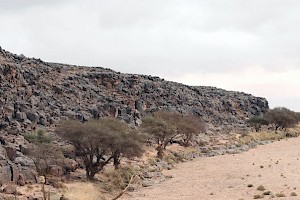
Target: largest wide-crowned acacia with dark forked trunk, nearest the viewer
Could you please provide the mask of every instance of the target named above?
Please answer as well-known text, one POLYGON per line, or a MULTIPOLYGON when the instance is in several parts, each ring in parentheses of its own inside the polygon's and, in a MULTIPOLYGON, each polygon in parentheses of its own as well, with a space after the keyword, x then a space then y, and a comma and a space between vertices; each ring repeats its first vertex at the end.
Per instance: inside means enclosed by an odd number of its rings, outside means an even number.
POLYGON ((131 145, 125 142, 125 134, 134 133, 129 133, 128 126, 116 118, 107 117, 85 123, 64 121, 57 132, 74 145, 76 154, 83 160, 89 180, 94 179, 95 174, 111 160, 118 167, 122 156, 134 157, 142 153, 139 141, 131 145))

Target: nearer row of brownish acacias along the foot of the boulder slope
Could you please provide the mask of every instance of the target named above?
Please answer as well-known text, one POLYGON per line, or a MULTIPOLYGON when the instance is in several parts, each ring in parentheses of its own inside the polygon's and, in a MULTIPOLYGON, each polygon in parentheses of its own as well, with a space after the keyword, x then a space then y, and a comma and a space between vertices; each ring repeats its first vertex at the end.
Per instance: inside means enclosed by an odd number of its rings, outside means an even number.
MULTIPOLYGON (((68 120, 59 124, 56 133, 74 146, 75 155, 82 160, 86 177, 93 180, 95 174, 109 163, 118 169, 122 158, 142 156, 145 144, 155 146, 157 157, 162 159, 171 142, 176 140, 180 145, 189 146, 193 137, 205 130, 200 117, 174 112, 155 112, 142 121, 141 127, 129 127, 125 122, 111 117, 84 123, 68 120)), ((38 172, 45 178, 50 165, 63 163, 59 162, 62 153, 51 145, 48 135, 38 132, 25 138, 34 144, 30 154, 38 172)))

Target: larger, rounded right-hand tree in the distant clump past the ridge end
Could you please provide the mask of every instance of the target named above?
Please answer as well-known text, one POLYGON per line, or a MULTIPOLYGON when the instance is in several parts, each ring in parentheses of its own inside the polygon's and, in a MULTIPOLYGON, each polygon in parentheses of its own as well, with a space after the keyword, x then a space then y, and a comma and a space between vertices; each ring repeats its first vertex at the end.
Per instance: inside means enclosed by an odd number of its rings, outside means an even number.
POLYGON ((275 131, 279 128, 286 129, 293 127, 298 123, 296 113, 284 107, 276 107, 269 110, 265 118, 271 124, 275 125, 275 131))

